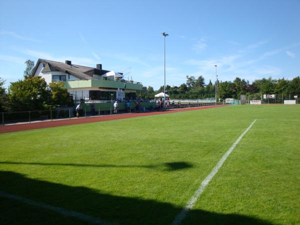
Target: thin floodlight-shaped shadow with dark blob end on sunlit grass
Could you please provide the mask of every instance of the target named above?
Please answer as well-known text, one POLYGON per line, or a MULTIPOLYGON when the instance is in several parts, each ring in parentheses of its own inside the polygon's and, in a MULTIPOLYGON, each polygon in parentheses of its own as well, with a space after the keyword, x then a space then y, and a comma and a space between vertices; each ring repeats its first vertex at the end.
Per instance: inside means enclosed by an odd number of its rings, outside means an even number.
MULTIPOLYGON (((117 164, 80 164, 80 163, 51 163, 51 162, 14 162, 0 161, 0 164, 18 164, 18 165, 58 165, 58 166, 82 166, 82 167, 120 167, 120 168, 160 168, 160 164, 156 165, 117 165, 117 164)), ((166 162, 163 165, 167 166, 167 171, 178 170, 192 167, 191 163, 184 161, 166 162)))

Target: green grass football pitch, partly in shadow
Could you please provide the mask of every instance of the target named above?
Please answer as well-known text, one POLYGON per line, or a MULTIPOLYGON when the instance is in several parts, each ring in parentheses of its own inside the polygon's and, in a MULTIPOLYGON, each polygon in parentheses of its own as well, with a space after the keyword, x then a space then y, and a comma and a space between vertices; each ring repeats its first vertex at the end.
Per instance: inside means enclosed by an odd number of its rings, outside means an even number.
MULTIPOLYGON (((0 134, 0 191, 119 224, 300 224, 300 107, 244 105, 0 134)), ((89 224, 0 197, 1 224, 89 224)))

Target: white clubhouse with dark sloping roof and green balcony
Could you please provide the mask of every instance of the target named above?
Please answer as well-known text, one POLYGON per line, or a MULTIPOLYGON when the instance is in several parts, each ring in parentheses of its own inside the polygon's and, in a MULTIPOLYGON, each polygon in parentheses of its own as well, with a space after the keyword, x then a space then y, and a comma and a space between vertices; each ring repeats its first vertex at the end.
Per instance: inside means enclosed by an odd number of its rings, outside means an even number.
POLYGON ((88 67, 72 64, 69 60, 57 62, 39 58, 32 74, 43 77, 47 84, 63 81, 63 87, 67 88, 73 100, 116 99, 120 91, 125 99, 135 99, 136 90, 142 88, 140 82, 125 80, 122 73, 102 69, 102 64, 88 67))

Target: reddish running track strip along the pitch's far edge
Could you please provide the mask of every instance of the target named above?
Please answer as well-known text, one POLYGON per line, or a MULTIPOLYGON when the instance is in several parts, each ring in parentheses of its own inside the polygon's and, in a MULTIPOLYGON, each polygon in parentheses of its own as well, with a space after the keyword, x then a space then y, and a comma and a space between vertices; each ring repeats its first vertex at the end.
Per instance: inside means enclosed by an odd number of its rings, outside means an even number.
POLYGON ((130 114, 81 117, 81 118, 72 118, 72 119, 58 119, 52 121, 39 121, 39 122, 32 122, 32 123, 19 123, 19 124, 0 126, 0 133, 15 132, 15 131, 22 131, 22 130, 29 130, 29 129, 48 128, 54 126, 65 126, 65 125, 80 124, 80 123, 87 123, 87 122, 100 122, 106 120, 124 119, 124 118, 140 117, 140 116, 147 116, 147 115, 158 115, 158 114, 173 113, 179 111, 191 111, 191 110, 199 110, 199 109, 215 108, 215 107, 223 107, 223 106, 227 106, 227 105, 210 105, 210 106, 201 106, 201 107, 194 107, 194 108, 180 108, 180 109, 174 109, 168 111, 140 112, 140 113, 130 113, 130 114))

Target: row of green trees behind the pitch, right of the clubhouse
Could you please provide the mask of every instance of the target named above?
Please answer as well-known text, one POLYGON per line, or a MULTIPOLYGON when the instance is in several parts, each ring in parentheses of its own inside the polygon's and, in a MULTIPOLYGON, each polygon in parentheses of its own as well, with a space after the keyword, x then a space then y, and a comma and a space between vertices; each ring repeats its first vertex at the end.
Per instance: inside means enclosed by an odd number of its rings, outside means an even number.
MULTIPOLYGON (((186 82, 179 86, 166 85, 166 93, 171 99, 204 99, 215 97, 215 84, 209 80, 207 84, 204 77, 186 76, 186 82)), ((236 77, 233 81, 217 81, 217 99, 239 99, 241 94, 300 94, 300 77, 293 79, 273 79, 272 77, 255 79, 253 82, 236 77)), ((163 86, 154 90, 151 86, 143 86, 137 91, 141 98, 153 99, 154 95, 163 92, 163 86)))

